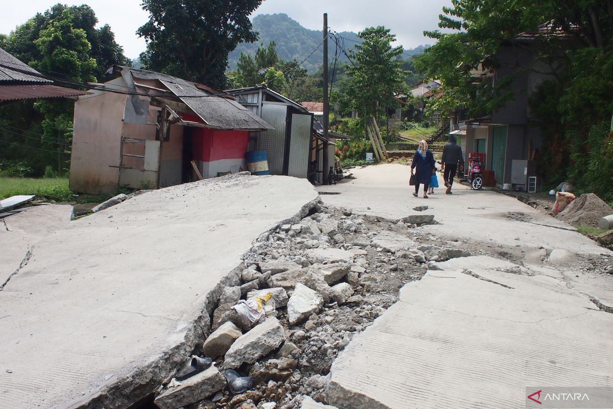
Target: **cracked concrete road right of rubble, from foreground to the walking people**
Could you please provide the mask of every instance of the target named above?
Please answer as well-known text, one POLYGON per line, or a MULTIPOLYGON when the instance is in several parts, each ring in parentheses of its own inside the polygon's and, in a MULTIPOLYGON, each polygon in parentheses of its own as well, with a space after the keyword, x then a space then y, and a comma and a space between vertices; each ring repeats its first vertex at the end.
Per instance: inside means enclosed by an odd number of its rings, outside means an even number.
POLYGON ((405 285, 332 365, 328 402, 340 409, 524 408, 528 386, 611 386, 613 314, 594 299, 613 305, 613 277, 581 271, 586 260, 611 252, 512 197, 455 185, 452 196, 437 189, 430 199, 415 198, 408 174, 392 164, 354 169, 356 180, 319 191, 340 193, 322 196, 326 204, 394 219, 428 205, 421 214, 441 224, 423 231, 492 256, 435 263, 405 285))

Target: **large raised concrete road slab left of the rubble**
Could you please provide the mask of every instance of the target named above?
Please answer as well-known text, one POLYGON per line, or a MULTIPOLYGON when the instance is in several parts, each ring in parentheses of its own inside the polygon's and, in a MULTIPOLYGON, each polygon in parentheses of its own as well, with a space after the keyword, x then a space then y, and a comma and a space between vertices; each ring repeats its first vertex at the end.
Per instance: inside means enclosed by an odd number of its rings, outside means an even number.
MULTIPOLYGON (((233 175, 38 240, 0 291, 0 408, 125 408, 153 391, 202 342, 207 296, 252 241, 316 198, 306 180, 233 175)), ((17 244, 2 252, 23 258, 17 244)))

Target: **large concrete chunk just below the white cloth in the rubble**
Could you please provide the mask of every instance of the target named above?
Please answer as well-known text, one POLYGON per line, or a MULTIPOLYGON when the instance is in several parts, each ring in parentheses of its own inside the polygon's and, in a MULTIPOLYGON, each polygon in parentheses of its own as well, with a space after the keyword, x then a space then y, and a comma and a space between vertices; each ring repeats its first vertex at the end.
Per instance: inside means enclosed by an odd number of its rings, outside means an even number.
POLYGON ((242 337, 226 353, 223 368, 238 368, 243 362, 253 364, 259 357, 275 350, 285 340, 283 327, 276 318, 267 318, 242 337))

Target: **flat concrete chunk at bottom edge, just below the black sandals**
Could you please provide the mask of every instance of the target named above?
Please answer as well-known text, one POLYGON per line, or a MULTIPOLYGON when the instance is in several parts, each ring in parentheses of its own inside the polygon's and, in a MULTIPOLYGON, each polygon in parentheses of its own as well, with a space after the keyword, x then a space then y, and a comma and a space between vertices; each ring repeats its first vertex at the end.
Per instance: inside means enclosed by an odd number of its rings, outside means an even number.
POLYGON ((166 389, 154 403, 160 409, 177 409, 199 400, 206 399, 226 386, 226 380, 221 372, 211 366, 191 378, 181 381, 181 386, 166 389))

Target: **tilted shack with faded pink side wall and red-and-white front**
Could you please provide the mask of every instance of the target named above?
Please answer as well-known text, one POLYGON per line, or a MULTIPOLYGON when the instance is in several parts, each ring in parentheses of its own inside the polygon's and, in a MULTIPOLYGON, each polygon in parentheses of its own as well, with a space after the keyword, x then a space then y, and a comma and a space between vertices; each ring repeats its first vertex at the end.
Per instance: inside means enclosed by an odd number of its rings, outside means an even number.
POLYGON ((249 132, 273 129, 228 93, 113 66, 75 102, 70 188, 112 194, 246 170, 249 132))

